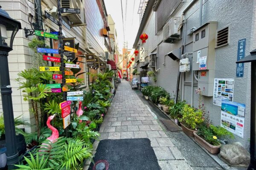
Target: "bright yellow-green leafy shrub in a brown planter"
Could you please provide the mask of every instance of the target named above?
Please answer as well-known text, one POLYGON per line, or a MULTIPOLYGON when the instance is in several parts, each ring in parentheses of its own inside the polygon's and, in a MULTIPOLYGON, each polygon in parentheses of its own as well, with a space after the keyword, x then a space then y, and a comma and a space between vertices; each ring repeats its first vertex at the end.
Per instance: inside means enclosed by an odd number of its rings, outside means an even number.
POLYGON ((194 137, 194 132, 197 131, 198 126, 204 122, 203 112, 190 107, 190 105, 184 105, 181 111, 182 118, 178 118, 181 122, 181 127, 187 136, 194 137))

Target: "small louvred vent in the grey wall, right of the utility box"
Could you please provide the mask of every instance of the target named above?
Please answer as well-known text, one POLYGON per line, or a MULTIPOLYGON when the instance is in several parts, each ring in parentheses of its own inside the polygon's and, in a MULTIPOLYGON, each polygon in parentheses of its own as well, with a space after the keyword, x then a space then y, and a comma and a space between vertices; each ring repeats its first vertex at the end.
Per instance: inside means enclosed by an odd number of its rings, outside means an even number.
POLYGON ((216 48, 229 43, 229 26, 217 31, 216 35, 216 48))

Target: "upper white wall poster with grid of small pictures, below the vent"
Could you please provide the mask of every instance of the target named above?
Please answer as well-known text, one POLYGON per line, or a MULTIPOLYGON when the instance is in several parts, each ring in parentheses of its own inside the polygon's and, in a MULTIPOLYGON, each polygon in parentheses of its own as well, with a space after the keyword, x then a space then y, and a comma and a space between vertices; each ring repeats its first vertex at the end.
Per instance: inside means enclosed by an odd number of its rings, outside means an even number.
POLYGON ((221 106, 221 100, 233 102, 234 79, 214 79, 213 105, 221 106))

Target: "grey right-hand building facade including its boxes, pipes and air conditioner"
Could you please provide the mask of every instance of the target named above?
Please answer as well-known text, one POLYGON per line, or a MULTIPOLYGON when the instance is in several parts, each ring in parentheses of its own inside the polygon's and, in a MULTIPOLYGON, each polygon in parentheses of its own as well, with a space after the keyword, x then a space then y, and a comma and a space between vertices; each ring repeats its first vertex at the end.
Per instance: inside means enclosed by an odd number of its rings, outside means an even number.
POLYGON ((234 80, 232 93, 231 90, 217 91, 220 96, 229 95, 233 102, 246 106, 242 136, 235 135, 233 141, 241 142, 247 149, 250 144, 250 64, 245 64, 241 71, 236 61, 241 50, 246 56, 256 48, 255 8, 253 0, 242 3, 239 0, 149 0, 134 42, 135 49, 145 48, 145 62, 138 62, 136 57, 138 70, 142 67, 140 71, 154 71, 157 82, 150 84, 163 87, 172 97, 177 94, 181 54, 188 53, 183 57, 188 58, 186 66, 190 69, 180 75, 178 97, 198 108, 196 90, 200 89, 214 125, 221 125, 222 120, 221 107, 214 104, 214 80, 234 80), (143 33, 148 34, 145 43, 139 38, 143 33), (207 66, 200 64, 205 61, 203 57, 207 58, 207 66), (152 60, 155 66, 151 65, 152 60), (203 77, 208 79, 202 82, 203 77))

